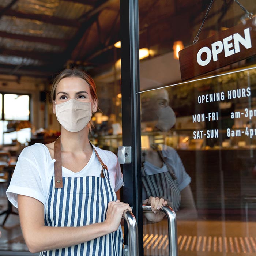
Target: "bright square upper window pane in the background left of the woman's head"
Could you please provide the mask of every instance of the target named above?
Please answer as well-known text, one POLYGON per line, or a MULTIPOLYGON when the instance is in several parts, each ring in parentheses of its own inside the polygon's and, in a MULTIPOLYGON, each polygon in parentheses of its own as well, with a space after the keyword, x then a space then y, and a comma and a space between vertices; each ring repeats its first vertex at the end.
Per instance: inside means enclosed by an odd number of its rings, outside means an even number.
POLYGON ((4 119, 29 120, 29 95, 4 94, 4 119))

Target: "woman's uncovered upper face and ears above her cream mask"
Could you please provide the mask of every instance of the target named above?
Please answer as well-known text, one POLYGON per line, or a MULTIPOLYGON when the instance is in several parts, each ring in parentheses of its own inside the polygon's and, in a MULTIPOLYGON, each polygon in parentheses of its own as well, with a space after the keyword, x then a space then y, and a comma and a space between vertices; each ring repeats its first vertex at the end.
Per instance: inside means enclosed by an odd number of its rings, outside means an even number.
POLYGON ((56 87, 55 102, 53 101, 53 113, 55 104, 60 104, 70 99, 82 102, 92 102, 92 111, 97 111, 97 100, 92 98, 89 84, 79 77, 67 77, 60 80, 56 87))

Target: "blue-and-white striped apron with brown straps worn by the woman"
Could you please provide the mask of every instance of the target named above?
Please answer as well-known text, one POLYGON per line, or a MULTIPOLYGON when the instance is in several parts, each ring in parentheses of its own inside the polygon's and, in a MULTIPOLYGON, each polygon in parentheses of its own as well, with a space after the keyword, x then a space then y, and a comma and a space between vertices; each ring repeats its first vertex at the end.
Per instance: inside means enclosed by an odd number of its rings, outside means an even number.
MULTIPOLYGON (((116 201, 116 193, 109 181, 107 166, 93 148, 102 165, 101 177, 62 177, 60 137, 54 144, 54 177, 46 202, 45 225, 76 227, 105 221, 110 201, 116 201)), ((113 233, 94 240, 62 249, 44 251, 40 256, 121 256, 123 235, 121 226, 113 233)))

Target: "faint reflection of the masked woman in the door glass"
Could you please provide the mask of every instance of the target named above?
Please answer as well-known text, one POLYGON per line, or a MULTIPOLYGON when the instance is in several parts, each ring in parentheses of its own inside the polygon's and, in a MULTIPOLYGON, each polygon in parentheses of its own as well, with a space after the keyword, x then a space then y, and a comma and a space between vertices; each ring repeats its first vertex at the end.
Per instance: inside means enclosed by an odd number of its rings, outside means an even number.
MULTIPOLYGON (((169 106, 169 94, 165 89, 149 91, 142 95, 142 129, 167 132, 176 122, 176 116, 169 106)), ((177 213, 177 218, 195 218, 196 208, 189 186, 191 177, 187 174, 176 150, 172 147, 153 143, 146 151, 142 166, 142 196, 144 203, 150 197, 163 198, 177 213)), ((142 159, 143 162, 143 159, 142 159)), ((163 214, 158 213, 159 221, 163 214)))

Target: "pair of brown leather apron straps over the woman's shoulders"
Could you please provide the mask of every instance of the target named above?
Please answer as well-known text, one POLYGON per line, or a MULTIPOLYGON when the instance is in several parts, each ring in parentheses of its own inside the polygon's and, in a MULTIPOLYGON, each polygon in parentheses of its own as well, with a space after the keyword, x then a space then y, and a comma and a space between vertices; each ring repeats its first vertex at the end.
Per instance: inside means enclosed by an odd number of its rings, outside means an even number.
MULTIPOLYGON (((90 144, 91 144, 91 142, 90 142, 90 144)), ((93 147, 92 144, 91 144, 91 146, 93 147)), ((108 170, 108 167, 103 163, 103 161, 99 157, 98 152, 95 150, 94 147, 93 147, 93 150, 102 166, 101 178, 106 178, 105 174, 104 174, 104 169, 108 170)), ((55 159, 55 163, 54 163, 55 188, 63 188, 60 136, 54 143, 54 159, 55 159)))

